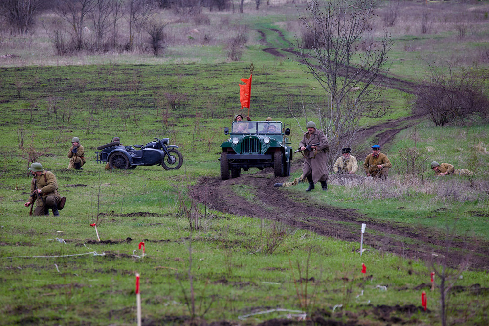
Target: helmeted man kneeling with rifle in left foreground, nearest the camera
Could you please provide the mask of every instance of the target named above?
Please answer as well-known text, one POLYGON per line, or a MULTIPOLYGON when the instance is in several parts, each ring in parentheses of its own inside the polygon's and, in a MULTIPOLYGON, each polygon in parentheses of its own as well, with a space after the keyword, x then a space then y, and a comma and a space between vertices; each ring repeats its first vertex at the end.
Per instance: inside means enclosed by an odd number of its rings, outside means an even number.
POLYGON ((34 215, 49 215, 49 209, 53 210, 54 216, 59 216, 58 205, 61 201, 61 196, 58 193, 58 180, 56 176, 43 169, 41 163, 32 163, 29 170, 34 175, 31 181, 31 196, 24 204, 25 207, 34 205, 36 201, 36 209, 34 215))

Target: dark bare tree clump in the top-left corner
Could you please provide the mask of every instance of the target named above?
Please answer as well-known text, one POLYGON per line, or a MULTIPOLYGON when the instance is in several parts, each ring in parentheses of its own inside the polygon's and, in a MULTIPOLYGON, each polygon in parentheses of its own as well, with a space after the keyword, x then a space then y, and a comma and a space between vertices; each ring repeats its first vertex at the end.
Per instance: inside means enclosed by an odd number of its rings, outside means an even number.
POLYGON ((26 34, 34 24, 44 0, 1 0, 0 16, 19 34, 26 34))

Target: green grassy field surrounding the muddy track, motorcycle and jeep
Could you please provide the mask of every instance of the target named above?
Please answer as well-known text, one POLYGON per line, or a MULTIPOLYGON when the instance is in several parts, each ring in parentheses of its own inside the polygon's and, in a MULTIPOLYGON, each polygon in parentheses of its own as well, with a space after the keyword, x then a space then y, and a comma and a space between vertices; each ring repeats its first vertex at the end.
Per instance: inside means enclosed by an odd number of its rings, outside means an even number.
MULTIPOLYGON (((422 58, 435 54, 462 52, 464 65, 487 65, 478 51, 488 33, 485 4, 467 5, 465 16, 458 15, 458 4, 430 4, 436 14, 431 32, 423 35, 418 32, 422 9, 415 3, 403 5, 409 14, 390 28, 396 41, 392 75, 417 80, 424 71, 422 58), (416 23, 409 24, 410 19, 416 23), (467 27, 463 38, 457 22, 467 27), (484 24, 486 28, 479 28, 484 24), (455 45, 457 51, 444 51, 455 45)), ((240 112, 237 84, 248 77, 250 62, 255 66, 251 117, 285 122, 294 146, 302 134, 292 114, 300 112, 302 96, 308 102, 322 96, 293 60, 262 51, 258 31, 265 31, 274 47, 293 43, 297 25, 291 17, 297 9, 291 4, 281 11, 277 7, 272 2, 256 14, 248 9, 241 16, 208 13, 211 23, 203 27, 170 24, 180 39, 157 58, 145 53, 56 57, 46 35, 27 36, 32 40, 27 43, 1 39, 0 54, 16 55, 0 59, 1 325, 133 325, 136 272, 141 274, 147 325, 256 325, 296 314, 246 316, 278 308, 307 312, 316 323, 331 319, 360 325, 440 325, 440 293, 429 291, 427 262, 368 246, 360 257, 359 243, 291 229, 265 217, 209 210, 187 196, 187 186, 199 177, 219 177, 223 128, 240 112), (249 43, 240 62, 229 62, 223 45, 230 28, 223 22, 229 21, 248 28, 249 43), (194 43, 199 38, 188 38, 193 27, 220 33, 203 46, 194 43), (270 28, 281 30, 289 41, 284 43, 270 28), (44 42, 34 42, 37 39, 44 42), (74 136, 87 153, 83 171, 67 170, 74 136), (178 171, 157 166, 106 171, 95 162, 96 147, 114 136, 125 145, 170 137, 171 144, 180 146, 184 164, 178 171), (57 176, 60 193, 67 197, 60 217, 30 217, 23 206, 30 190, 29 151, 57 176), (198 230, 189 216, 197 219, 198 230), (90 227, 94 222, 101 242, 90 227), (144 257, 138 249, 141 241, 144 257), (362 263, 366 274, 360 272, 362 263), (423 290, 428 293, 427 312, 421 307, 423 290)), ((385 119, 410 115, 412 100, 410 94, 387 90, 385 101, 392 111, 385 119)), ((305 123, 301 118, 299 122, 305 123)), ((310 198, 420 230, 443 234, 448 226, 458 241, 487 243, 489 160, 483 148, 488 144, 485 123, 435 127, 420 121, 383 149, 393 169, 378 192, 368 185, 331 185, 326 194, 313 192, 310 198), (400 151, 413 147, 424 153, 428 164, 448 162, 477 175, 472 181, 463 176, 436 178, 428 167, 421 175, 407 177, 400 151)), ((363 158, 357 158, 361 164, 363 158)), ((237 186, 233 191, 253 200, 251 188, 237 186)), ((405 241, 409 245, 408 237, 405 241)), ((449 322, 487 325, 486 271, 464 269, 460 278, 450 281, 457 287, 450 292, 449 322)))

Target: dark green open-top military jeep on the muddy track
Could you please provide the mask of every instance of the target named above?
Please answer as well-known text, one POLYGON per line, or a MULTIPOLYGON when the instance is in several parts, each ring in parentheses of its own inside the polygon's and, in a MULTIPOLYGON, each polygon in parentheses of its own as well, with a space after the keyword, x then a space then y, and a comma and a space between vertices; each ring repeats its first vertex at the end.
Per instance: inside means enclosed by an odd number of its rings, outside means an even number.
POLYGON ((275 176, 289 176, 292 147, 287 137, 290 129, 283 130, 280 121, 233 121, 229 139, 222 143, 221 178, 237 178, 241 169, 263 170, 273 167, 275 176))

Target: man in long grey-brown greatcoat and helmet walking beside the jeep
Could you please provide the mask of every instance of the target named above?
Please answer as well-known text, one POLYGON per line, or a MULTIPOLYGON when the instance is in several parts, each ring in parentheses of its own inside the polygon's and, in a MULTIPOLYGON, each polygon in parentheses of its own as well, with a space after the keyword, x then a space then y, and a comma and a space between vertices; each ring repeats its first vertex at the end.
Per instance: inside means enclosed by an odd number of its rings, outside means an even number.
POLYGON ((313 121, 309 121, 306 128, 307 132, 299 143, 299 148, 305 157, 302 173, 309 182, 309 187, 306 191, 314 189, 314 184, 318 181, 321 182, 323 190, 327 190, 328 166, 326 153, 330 151, 328 139, 322 131, 316 129, 316 124, 313 121))

